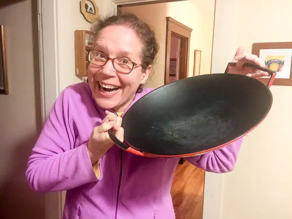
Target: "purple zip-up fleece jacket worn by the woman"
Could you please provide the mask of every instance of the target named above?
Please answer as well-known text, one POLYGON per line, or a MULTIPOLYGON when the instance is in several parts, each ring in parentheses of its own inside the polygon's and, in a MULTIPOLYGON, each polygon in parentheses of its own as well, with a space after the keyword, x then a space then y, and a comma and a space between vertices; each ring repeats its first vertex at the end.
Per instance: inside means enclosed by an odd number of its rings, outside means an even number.
MULTIPOLYGON (((137 93, 132 104, 152 90, 137 93)), ((97 178, 87 143, 105 116, 87 83, 62 91, 29 157, 30 186, 66 190, 63 219, 175 219, 170 189, 179 158, 146 158, 112 146, 100 159, 97 178)), ((209 172, 229 172, 241 143, 185 160, 209 172)))

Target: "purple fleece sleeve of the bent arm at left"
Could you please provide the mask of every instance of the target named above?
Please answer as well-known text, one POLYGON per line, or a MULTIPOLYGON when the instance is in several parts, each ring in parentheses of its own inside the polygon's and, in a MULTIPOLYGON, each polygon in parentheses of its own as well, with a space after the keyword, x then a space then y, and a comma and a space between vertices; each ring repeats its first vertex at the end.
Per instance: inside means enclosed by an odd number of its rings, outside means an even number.
MULTIPOLYGON (((40 192, 64 191, 98 181, 87 151, 87 142, 74 147, 72 99, 60 93, 28 159, 26 178, 40 192)), ((98 165, 102 162, 100 159, 98 165)))

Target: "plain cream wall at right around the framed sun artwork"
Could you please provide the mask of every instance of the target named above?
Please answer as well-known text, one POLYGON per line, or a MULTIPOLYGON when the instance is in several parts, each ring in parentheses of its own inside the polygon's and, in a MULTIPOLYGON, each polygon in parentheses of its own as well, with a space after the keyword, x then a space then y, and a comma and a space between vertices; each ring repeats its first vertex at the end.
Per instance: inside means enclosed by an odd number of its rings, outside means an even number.
MULTIPOLYGON (((217 4, 212 71, 223 72, 238 46, 251 53, 255 42, 292 39, 290 0, 217 4)), ((292 87, 271 91, 272 110, 245 138, 235 170, 223 175, 221 219, 292 218, 292 87)))

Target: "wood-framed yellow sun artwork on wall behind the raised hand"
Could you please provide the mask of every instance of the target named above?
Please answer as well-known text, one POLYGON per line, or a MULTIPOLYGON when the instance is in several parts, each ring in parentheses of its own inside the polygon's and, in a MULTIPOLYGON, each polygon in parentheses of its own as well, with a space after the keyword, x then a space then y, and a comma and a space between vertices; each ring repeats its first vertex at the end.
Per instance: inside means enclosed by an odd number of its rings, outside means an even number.
MULTIPOLYGON (((265 67, 276 72, 273 85, 292 86, 292 42, 254 43, 252 54, 265 62, 265 67)), ((259 78, 267 84, 269 77, 259 78)))

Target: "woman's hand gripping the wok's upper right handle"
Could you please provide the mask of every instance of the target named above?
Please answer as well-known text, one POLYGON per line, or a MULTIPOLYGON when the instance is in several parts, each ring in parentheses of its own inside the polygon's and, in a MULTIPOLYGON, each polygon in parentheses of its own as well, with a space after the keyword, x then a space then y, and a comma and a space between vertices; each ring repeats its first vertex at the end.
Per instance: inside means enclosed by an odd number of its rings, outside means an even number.
POLYGON ((233 58, 233 62, 236 62, 236 66, 232 66, 229 68, 228 73, 231 74, 243 74, 249 77, 260 78, 263 76, 270 76, 269 73, 263 72, 251 67, 243 67, 245 63, 256 64, 261 67, 265 67, 265 63, 257 57, 257 55, 253 54, 244 54, 244 50, 242 47, 237 49, 237 52, 233 58))

